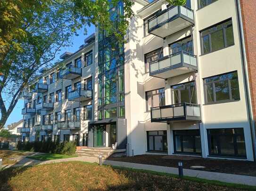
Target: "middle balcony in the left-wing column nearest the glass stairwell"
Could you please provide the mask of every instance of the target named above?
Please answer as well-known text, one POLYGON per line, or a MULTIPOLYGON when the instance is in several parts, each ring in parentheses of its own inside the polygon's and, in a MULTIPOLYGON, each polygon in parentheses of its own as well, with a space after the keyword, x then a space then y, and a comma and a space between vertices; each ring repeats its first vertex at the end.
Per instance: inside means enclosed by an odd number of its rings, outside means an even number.
POLYGON ((69 101, 85 101, 92 99, 92 90, 77 89, 67 95, 69 101))

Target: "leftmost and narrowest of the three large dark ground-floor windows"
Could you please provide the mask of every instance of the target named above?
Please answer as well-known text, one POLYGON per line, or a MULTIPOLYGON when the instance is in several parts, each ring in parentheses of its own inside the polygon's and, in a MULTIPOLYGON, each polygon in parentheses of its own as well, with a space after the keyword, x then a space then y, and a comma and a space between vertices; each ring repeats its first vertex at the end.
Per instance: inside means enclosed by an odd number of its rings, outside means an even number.
POLYGON ((167 152, 166 130, 147 131, 148 151, 167 152))

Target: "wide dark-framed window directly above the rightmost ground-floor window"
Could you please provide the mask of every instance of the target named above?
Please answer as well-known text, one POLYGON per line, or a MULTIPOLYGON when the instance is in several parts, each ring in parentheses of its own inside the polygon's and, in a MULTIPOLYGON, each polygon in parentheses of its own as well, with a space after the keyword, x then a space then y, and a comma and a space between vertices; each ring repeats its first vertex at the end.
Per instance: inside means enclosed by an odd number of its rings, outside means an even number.
POLYGON ((218 103, 239 100, 239 83, 237 71, 207 77, 204 79, 205 102, 218 103))

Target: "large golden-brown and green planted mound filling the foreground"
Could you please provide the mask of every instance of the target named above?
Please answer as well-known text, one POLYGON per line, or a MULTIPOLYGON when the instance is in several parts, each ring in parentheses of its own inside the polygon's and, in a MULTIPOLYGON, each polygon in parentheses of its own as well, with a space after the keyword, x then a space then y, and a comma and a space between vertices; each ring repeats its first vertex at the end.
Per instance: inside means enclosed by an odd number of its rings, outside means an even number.
POLYGON ((256 187, 223 184, 203 179, 179 179, 173 175, 63 162, 0 171, 0 191, 244 191, 256 187))

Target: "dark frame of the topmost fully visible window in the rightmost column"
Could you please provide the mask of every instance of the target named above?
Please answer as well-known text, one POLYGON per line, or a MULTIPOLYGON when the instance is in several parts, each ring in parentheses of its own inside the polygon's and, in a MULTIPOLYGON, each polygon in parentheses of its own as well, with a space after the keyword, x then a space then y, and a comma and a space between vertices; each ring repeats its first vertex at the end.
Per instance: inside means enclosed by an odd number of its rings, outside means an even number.
POLYGON ((199 35, 200 35, 200 46, 201 46, 200 49, 201 49, 201 55, 206 55, 206 54, 208 54, 208 53, 214 53, 214 52, 216 52, 216 51, 219 51, 219 50, 222 50, 222 49, 224 49, 224 48, 228 48, 228 47, 231 47, 231 46, 234 46, 234 45, 235 45, 232 18, 228 18, 228 19, 226 19, 226 20, 224 20, 224 21, 222 21, 222 22, 220 22, 220 23, 216 23, 216 24, 214 24, 214 25, 211 25, 211 26, 209 26, 209 27, 207 27, 207 28, 205 28, 205 29, 199 31, 199 35), (227 27, 223 27, 223 26, 222 26, 221 29, 218 29, 218 30, 216 30, 216 31, 212 31, 212 32, 207 33, 206 35, 203 35, 203 32, 204 32, 204 31, 207 31, 207 30, 209 30, 209 29, 212 29, 212 28, 214 28, 214 27, 216 27, 216 26, 218 26, 218 25, 227 23, 227 22, 229 22, 229 21, 231 21, 231 24, 227 25, 227 27), (231 45, 227 45, 226 29, 228 28, 228 26, 232 26, 232 31, 233 31, 233 40, 234 40, 234 43, 231 44, 231 45), (212 50, 211 35, 212 35, 213 33, 215 33, 215 32, 219 32, 219 31, 223 31, 223 44, 224 44, 224 46, 223 46, 222 48, 220 48, 220 49, 217 49, 217 50, 214 50, 214 51, 213 51, 213 50, 212 50), (204 42, 203 42, 203 38, 206 37, 206 36, 208 37, 208 42, 209 42, 209 52, 204 53, 204 42))

